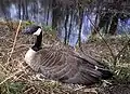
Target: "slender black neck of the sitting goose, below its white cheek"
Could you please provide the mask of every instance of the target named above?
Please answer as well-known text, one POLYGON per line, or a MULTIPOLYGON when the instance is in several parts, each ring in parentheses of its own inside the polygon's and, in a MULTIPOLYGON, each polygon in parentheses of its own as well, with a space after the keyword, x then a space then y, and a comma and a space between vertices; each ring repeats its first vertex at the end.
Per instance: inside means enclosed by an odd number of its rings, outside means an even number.
POLYGON ((31 48, 34 51, 39 51, 41 49, 41 42, 42 42, 42 31, 39 36, 37 36, 35 45, 31 48))

